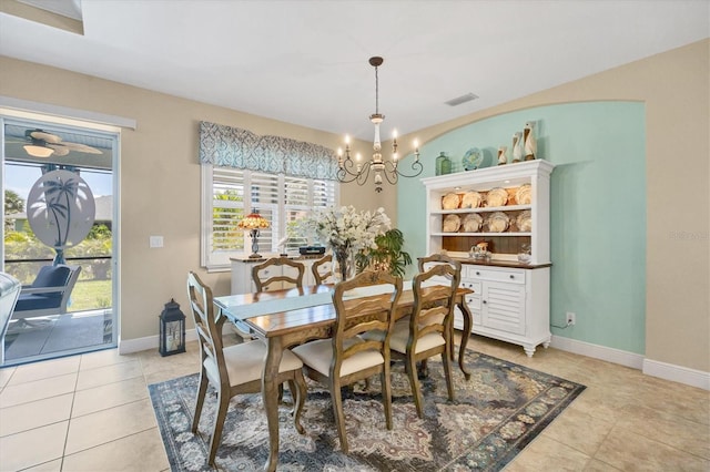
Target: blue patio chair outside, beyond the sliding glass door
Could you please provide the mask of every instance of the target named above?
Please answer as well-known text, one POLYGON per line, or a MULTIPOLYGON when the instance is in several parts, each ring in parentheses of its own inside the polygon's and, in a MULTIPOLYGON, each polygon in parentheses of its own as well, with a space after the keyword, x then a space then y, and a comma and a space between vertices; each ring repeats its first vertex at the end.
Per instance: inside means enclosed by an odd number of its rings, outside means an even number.
POLYGON ((63 264, 40 268, 32 285, 22 287, 12 319, 64 315, 80 273, 81 267, 63 264))

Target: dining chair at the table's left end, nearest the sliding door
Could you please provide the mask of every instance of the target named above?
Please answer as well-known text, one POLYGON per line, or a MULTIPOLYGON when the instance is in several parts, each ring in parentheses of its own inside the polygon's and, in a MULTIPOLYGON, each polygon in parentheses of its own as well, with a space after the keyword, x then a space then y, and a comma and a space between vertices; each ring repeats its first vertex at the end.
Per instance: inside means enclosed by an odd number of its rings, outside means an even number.
MULTIPOLYGON (((192 271, 187 274, 187 296, 195 321, 195 331, 200 339, 202 360, 192 432, 197 433, 207 386, 211 383, 217 393, 217 413, 212 425, 207 462, 214 465, 230 400, 240 393, 262 391, 266 345, 262 341, 247 341, 223 347, 222 326, 226 318, 221 315, 215 318, 212 290, 192 271)), ((294 404, 292 412, 294 425, 303 434, 305 430, 301 425, 301 410, 306 396, 303 362, 288 349, 283 351, 276 380, 278 384, 288 382, 294 404)))

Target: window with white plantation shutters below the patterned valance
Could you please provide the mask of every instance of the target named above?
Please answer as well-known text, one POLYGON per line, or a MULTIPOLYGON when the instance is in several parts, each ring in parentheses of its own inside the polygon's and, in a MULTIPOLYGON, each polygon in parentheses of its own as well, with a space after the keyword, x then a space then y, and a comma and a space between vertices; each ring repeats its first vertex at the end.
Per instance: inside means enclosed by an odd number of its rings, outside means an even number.
POLYGON ((202 265, 226 269, 230 257, 243 256, 245 247, 251 254, 251 239, 239 223, 253 212, 271 224, 260 232, 260 253, 278 253, 282 244, 287 252, 296 250, 307 244, 293 235, 296 219, 314 207, 334 206, 336 199, 334 181, 203 164, 202 265))

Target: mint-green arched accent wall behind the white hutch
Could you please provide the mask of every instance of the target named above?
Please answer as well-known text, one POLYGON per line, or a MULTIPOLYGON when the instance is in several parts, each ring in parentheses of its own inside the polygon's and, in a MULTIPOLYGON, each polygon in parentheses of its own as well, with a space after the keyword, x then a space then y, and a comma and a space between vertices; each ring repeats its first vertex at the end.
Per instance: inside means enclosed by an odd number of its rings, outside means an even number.
MULTIPOLYGON (((424 172, 444 151, 453 172, 462 157, 484 151, 496 165, 499 145, 536 122, 538 156, 556 165, 550 188, 550 322, 556 336, 645 353, 646 345, 646 110, 639 102, 587 102, 506 113, 452 130, 420 147, 424 172)), ((671 158, 672 156, 669 156, 671 158)), ((410 158, 410 157, 408 157, 410 158)), ((406 167, 406 163, 403 163, 406 167)), ((670 165, 670 164, 669 164, 670 165)), ((476 171, 469 171, 476 172, 476 171)), ((397 226, 405 250, 424 255, 425 188, 419 178, 397 184, 397 226)), ((669 196, 670 197, 670 196, 669 196)), ((410 267, 408 275, 414 273, 410 267)))

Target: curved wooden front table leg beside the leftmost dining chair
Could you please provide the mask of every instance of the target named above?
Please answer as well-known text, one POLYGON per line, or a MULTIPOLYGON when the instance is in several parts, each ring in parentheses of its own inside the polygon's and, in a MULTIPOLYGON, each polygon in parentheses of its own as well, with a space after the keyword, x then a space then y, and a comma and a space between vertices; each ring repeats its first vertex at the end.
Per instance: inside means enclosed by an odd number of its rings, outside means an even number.
POLYGON ((267 352, 262 374, 262 397, 266 422, 268 424, 268 460, 264 465, 267 472, 274 472, 278 464, 278 366, 283 356, 281 338, 266 339, 267 352))

